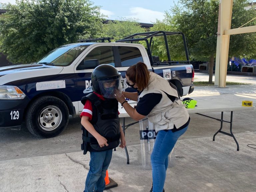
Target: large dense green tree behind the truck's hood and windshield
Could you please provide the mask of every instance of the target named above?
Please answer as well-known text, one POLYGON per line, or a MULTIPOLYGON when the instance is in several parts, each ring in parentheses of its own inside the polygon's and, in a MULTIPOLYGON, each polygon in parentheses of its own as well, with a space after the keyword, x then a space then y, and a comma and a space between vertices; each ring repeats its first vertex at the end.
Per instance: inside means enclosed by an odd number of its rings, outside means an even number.
POLYGON ((88 0, 17 0, 2 4, 0 52, 13 63, 35 62, 50 50, 98 37, 103 16, 88 0))

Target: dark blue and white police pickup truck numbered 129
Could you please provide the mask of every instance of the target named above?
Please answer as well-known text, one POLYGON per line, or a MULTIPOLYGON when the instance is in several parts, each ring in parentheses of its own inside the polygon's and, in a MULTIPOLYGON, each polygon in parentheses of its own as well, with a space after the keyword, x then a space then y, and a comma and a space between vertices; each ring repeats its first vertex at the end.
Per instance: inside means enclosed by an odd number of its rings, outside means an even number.
POLYGON ((37 137, 57 136, 66 128, 69 115, 77 117, 82 112, 83 91, 91 86, 91 72, 100 64, 118 69, 126 91, 134 90, 126 83, 125 71, 141 61, 149 71, 176 85, 181 96, 193 92, 194 69, 183 33, 155 31, 116 42, 104 42, 106 39, 110 38, 80 40, 50 51, 36 63, 0 67, 0 128, 19 130, 24 122, 37 137), (174 35, 181 37, 184 61, 171 60, 173 44, 168 37, 174 35), (166 61, 152 56, 157 37, 162 38, 166 61))

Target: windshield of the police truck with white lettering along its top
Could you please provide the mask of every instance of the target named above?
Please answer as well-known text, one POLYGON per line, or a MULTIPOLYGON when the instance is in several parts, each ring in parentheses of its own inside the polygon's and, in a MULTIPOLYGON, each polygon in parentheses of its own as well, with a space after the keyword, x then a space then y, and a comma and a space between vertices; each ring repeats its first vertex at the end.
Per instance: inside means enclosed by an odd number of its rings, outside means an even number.
POLYGON ((87 47, 88 45, 64 45, 50 51, 37 63, 51 63, 56 66, 67 66, 70 65, 87 47))

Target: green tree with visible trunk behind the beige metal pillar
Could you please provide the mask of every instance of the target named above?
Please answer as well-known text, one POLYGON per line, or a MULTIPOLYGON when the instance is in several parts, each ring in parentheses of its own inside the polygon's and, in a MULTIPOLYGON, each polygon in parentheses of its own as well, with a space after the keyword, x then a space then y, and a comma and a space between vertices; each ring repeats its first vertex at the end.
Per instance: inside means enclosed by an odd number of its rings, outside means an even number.
MULTIPOLYGON (((231 28, 240 27, 256 15, 255 9, 244 9, 247 5, 247 0, 233 1, 231 28)), ((218 12, 219 0, 183 0, 175 4, 170 12, 166 12, 164 19, 173 29, 183 32, 188 38, 192 58, 209 61, 209 83, 212 83, 216 57, 218 12)), ((255 34, 231 36, 230 57, 252 55, 253 49, 255 50, 255 34)))

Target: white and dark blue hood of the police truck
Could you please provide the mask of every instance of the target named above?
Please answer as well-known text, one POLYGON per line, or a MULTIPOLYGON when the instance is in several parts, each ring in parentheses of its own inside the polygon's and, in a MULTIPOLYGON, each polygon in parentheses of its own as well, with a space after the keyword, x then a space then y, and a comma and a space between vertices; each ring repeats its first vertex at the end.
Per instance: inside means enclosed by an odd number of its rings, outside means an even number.
POLYGON ((0 67, 0 85, 16 80, 56 75, 63 70, 61 66, 50 66, 44 64, 22 64, 0 67))

